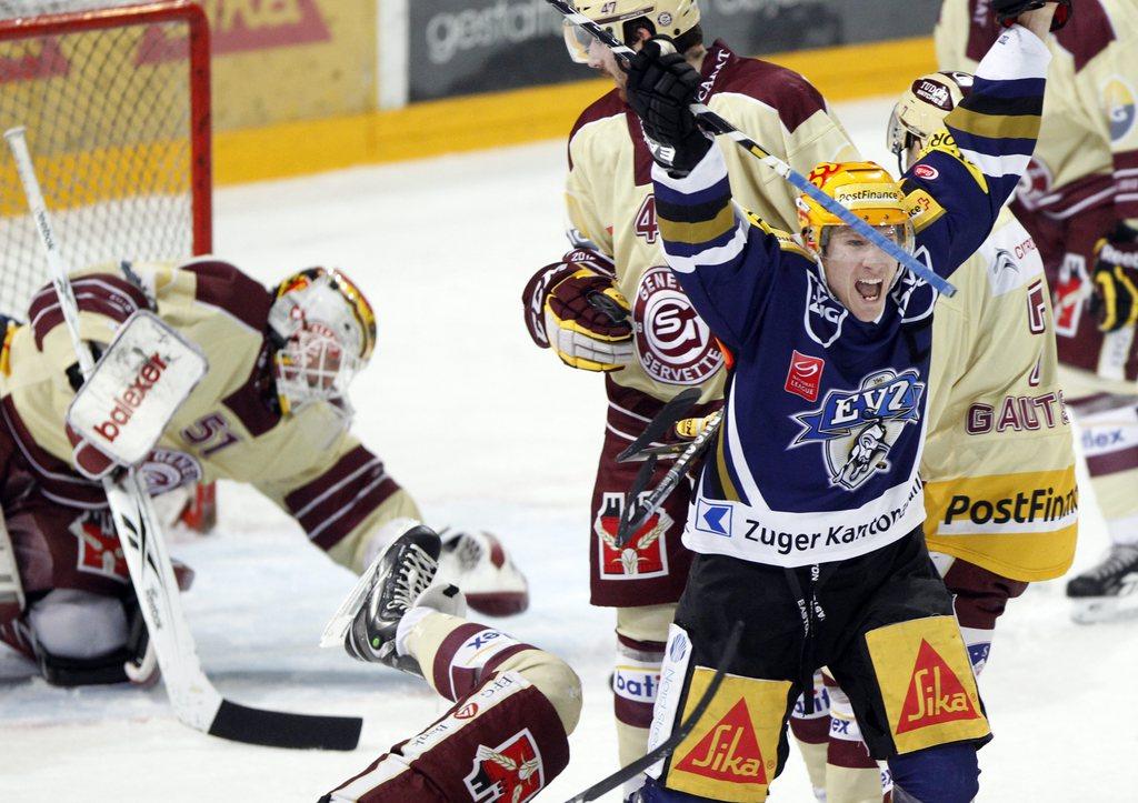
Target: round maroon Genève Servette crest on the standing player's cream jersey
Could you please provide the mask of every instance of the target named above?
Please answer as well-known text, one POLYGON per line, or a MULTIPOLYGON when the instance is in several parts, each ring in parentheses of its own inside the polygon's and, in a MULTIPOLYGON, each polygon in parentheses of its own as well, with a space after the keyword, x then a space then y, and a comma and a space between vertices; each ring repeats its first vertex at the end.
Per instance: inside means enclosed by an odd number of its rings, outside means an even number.
POLYGON ((649 376, 699 384, 718 371, 723 351, 669 267, 644 272, 633 304, 636 355, 649 376))

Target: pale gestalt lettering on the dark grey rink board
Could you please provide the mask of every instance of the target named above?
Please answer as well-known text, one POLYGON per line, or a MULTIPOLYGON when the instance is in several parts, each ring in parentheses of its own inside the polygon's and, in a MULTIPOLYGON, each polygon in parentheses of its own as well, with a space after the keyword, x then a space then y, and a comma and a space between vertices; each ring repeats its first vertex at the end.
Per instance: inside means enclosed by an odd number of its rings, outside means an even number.
POLYGON ((436 14, 427 23, 427 52, 431 64, 446 64, 463 50, 560 38, 561 26, 560 15, 545 0, 497 0, 486 8, 436 14))

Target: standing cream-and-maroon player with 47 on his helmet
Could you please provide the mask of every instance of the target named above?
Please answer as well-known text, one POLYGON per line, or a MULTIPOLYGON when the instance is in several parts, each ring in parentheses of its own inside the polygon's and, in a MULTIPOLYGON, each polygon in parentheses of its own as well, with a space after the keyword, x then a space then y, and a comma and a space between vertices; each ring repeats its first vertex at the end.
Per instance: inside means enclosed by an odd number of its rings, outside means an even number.
MULTIPOLYGON (((674 41, 699 71, 699 98, 801 172, 818 162, 858 158, 825 100, 801 75, 703 43, 695 0, 578 0, 577 10, 637 49, 651 36, 674 41)), ((681 544, 686 494, 677 490, 628 548, 615 536, 637 465, 620 453, 665 402, 702 391, 693 415, 721 404, 724 354, 668 270, 660 247, 640 121, 626 104, 626 75, 608 48, 566 28, 574 60, 612 78, 569 135, 566 205, 572 231, 561 262, 538 271, 522 295, 526 325, 542 348, 576 369, 604 372, 609 409, 589 522, 591 602, 617 609, 613 702, 622 764, 643 755, 668 624, 691 553, 681 544), (632 299, 629 303, 627 299, 632 299)), ((794 221, 794 193, 754 160, 725 155, 736 198, 776 225, 794 221)), ((657 480, 667 471, 663 463, 657 480)), ((820 719, 813 722, 823 725, 820 719)), ((825 731, 813 736, 813 767, 825 762, 825 731)), ((819 776, 820 777, 820 776, 819 776)))

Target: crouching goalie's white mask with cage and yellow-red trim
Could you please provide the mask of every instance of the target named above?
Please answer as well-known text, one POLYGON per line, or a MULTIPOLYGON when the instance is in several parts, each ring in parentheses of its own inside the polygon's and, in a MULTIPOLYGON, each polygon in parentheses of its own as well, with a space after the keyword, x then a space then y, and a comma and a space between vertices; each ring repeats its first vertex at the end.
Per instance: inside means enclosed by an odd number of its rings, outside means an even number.
POLYGON ((281 412, 331 402, 351 415, 347 389, 376 348, 376 315, 339 271, 310 267, 274 292, 269 328, 278 342, 273 373, 281 412))

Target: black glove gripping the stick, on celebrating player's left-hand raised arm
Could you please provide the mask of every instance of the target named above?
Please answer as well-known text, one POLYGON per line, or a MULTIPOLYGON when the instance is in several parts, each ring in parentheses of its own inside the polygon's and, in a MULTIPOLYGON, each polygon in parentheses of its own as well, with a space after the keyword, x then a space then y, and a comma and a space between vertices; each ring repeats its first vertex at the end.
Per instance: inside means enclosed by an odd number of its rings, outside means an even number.
POLYGON ((628 105, 655 143, 652 158, 673 175, 687 175, 711 148, 688 108, 695 102, 700 74, 671 43, 649 40, 628 64, 628 105), (663 52, 668 50, 670 52, 663 52))

